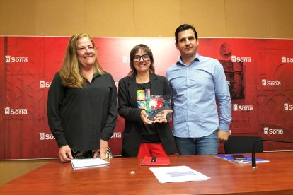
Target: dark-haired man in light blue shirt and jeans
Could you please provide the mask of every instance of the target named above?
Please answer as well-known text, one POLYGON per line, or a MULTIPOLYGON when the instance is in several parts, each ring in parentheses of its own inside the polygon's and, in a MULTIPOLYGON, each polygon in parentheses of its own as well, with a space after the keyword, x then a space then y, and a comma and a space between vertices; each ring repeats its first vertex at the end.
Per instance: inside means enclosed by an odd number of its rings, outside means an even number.
POLYGON ((227 141, 231 98, 223 66, 200 56, 197 32, 180 25, 175 32, 181 56, 167 69, 173 106, 173 135, 180 155, 218 153, 218 141, 227 141), (219 104, 219 114, 217 111, 219 104))

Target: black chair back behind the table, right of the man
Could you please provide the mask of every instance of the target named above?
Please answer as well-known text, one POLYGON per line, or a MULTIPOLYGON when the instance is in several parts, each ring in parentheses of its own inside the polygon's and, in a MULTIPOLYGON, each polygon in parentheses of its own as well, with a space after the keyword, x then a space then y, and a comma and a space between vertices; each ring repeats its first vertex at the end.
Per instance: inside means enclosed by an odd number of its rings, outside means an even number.
MULTIPOLYGON (((234 153, 252 153, 255 141, 263 139, 259 136, 229 136, 228 141, 224 143, 226 154, 234 153)), ((263 153, 263 141, 258 141, 254 148, 255 153, 263 153)))

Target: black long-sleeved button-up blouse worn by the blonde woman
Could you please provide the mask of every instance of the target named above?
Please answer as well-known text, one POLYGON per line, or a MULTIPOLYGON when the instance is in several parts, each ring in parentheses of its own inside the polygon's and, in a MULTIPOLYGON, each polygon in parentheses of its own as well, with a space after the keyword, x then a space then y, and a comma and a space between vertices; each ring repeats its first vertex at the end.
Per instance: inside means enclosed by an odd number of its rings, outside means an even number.
POLYGON ((56 73, 48 92, 47 116, 59 147, 68 144, 78 151, 100 148, 100 139, 108 141, 117 122, 113 77, 94 74, 83 88, 67 88, 56 73))

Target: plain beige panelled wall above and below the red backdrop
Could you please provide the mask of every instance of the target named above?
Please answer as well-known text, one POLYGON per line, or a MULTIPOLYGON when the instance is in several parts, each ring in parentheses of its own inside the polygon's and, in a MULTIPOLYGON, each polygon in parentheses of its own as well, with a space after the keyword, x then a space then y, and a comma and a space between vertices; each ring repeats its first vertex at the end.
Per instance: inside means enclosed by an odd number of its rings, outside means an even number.
MULTIPOLYGON (((292 0, 0 0, 0 35, 293 38, 292 0)), ((56 151, 57 152, 57 151, 56 151)), ((50 160, 0 161, 0 185, 50 160)))

